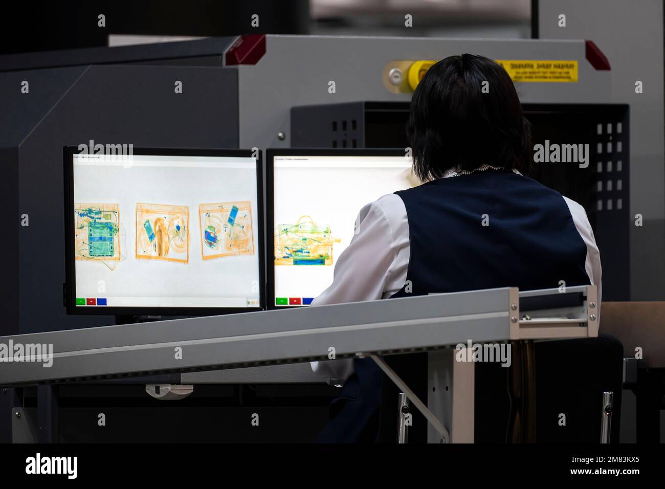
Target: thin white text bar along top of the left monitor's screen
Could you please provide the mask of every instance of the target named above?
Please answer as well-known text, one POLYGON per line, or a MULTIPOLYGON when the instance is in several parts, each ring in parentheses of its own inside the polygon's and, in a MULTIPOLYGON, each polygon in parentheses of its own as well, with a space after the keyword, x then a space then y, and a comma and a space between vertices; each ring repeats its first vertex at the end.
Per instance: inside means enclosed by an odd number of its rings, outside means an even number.
POLYGON ((256 168, 251 156, 163 156, 150 154, 74 154, 79 166, 152 166, 176 168, 256 168))

